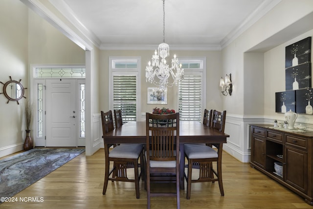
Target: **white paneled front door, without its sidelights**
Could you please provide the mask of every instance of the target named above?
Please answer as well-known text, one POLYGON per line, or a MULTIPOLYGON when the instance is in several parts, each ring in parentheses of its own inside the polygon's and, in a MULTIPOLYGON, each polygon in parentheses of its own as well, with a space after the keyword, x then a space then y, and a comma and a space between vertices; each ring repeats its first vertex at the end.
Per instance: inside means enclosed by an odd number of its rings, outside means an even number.
POLYGON ((76 147, 76 79, 46 79, 46 146, 76 147))

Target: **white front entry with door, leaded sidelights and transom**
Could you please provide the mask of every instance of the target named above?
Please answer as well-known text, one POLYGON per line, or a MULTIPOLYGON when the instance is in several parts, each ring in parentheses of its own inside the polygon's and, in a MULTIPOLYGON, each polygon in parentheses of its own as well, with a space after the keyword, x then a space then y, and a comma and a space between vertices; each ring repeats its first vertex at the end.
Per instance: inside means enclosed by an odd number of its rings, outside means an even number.
POLYGON ((35 146, 85 147, 85 68, 34 66, 33 69, 35 146))

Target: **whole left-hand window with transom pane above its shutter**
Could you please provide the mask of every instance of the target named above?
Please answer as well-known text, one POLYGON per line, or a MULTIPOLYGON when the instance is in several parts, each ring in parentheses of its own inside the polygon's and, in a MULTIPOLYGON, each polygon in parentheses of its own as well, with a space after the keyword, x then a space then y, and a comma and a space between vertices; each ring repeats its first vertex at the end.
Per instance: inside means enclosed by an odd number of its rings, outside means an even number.
POLYGON ((109 108, 120 109, 124 123, 140 118, 139 66, 140 58, 110 57, 109 108))

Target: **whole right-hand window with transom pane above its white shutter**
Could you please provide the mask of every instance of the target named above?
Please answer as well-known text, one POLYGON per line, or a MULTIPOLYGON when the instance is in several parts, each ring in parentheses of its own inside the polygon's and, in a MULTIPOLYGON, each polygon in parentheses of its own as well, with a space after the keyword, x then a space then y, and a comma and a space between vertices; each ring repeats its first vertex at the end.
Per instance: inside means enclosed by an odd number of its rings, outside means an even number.
POLYGON ((205 109, 205 58, 180 59, 184 79, 178 87, 178 110, 181 120, 201 121, 205 109), (204 108, 203 108, 204 107, 204 108))

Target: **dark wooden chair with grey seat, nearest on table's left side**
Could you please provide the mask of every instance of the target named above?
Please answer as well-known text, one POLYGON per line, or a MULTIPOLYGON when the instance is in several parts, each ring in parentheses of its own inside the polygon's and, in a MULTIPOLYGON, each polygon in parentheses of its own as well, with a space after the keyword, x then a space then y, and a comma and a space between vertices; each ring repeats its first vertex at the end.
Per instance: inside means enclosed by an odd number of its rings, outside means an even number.
POLYGON ((138 160, 143 162, 143 145, 142 144, 122 144, 113 146, 105 142, 105 135, 114 130, 112 111, 101 111, 102 131, 104 139, 105 152, 105 176, 102 194, 106 194, 109 180, 121 182, 134 182, 136 198, 139 199, 139 180, 144 175, 143 169, 138 169, 138 160), (112 148, 113 146, 113 148, 112 148), (110 162, 113 162, 113 168, 110 170, 110 162), (134 168, 134 178, 129 179, 127 169, 134 168), (112 174, 112 177, 110 177, 112 174))

